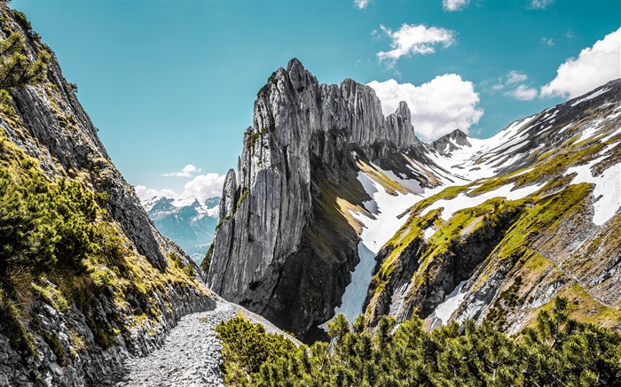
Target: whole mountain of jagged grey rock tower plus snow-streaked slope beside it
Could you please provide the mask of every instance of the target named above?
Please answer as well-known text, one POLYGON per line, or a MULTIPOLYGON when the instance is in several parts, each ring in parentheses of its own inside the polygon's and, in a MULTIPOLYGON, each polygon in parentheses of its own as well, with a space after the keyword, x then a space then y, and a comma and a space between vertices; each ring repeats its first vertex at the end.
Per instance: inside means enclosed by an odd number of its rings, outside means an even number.
POLYGON ((371 323, 415 310, 429 325, 483 318, 511 286, 512 329, 529 321, 523 308, 532 315, 578 288, 614 311, 621 300, 593 290, 614 259, 606 269, 578 261, 618 220, 605 187, 619 188, 620 89, 610 82, 487 140, 456 129, 426 144, 407 104, 384 117, 373 89, 320 84, 293 59, 257 95, 224 184, 208 285, 300 337, 340 312, 352 321, 366 311, 371 323), (581 231, 567 240, 570 228, 581 231), (536 264, 556 279, 520 268, 536 264))

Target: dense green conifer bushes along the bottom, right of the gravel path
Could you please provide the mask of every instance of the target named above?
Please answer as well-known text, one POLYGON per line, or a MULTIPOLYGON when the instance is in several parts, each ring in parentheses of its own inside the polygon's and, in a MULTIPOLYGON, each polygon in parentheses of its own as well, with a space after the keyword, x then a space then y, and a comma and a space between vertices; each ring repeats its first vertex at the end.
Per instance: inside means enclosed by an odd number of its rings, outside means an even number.
POLYGON ((621 334, 568 318, 567 300, 507 337, 490 321, 428 332, 416 315, 373 331, 358 316, 328 323, 330 343, 295 347, 243 316, 216 328, 224 377, 246 386, 611 386, 621 383, 621 334))

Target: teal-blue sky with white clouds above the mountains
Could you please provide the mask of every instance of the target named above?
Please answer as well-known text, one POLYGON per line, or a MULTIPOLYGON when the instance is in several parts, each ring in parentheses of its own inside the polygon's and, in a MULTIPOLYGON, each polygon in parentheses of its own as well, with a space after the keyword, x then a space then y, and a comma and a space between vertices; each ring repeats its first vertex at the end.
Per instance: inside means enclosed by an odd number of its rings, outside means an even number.
POLYGON ((619 0, 14 0, 142 198, 219 196, 256 92, 291 58, 486 138, 621 77, 619 0))

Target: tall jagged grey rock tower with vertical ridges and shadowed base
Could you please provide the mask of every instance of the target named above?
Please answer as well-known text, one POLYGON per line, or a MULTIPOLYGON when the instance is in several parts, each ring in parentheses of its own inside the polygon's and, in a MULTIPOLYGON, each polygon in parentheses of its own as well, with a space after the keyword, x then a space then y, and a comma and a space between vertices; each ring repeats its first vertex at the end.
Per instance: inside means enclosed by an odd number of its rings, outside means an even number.
POLYGON ((355 158, 381 166, 422 148, 407 104, 385 118, 373 89, 319 84, 291 60, 259 91, 227 174, 208 286, 299 336, 326 321, 358 263, 334 192, 359 204, 355 158))

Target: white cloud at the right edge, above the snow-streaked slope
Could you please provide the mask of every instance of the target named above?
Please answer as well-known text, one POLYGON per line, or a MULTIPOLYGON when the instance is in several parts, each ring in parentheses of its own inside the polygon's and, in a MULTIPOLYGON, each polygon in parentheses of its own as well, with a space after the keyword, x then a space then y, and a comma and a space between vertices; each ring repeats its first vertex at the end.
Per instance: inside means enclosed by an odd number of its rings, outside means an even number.
POLYGON ((621 28, 569 58, 554 80, 541 88, 541 97, 578 97, 621 77, 621 28))

